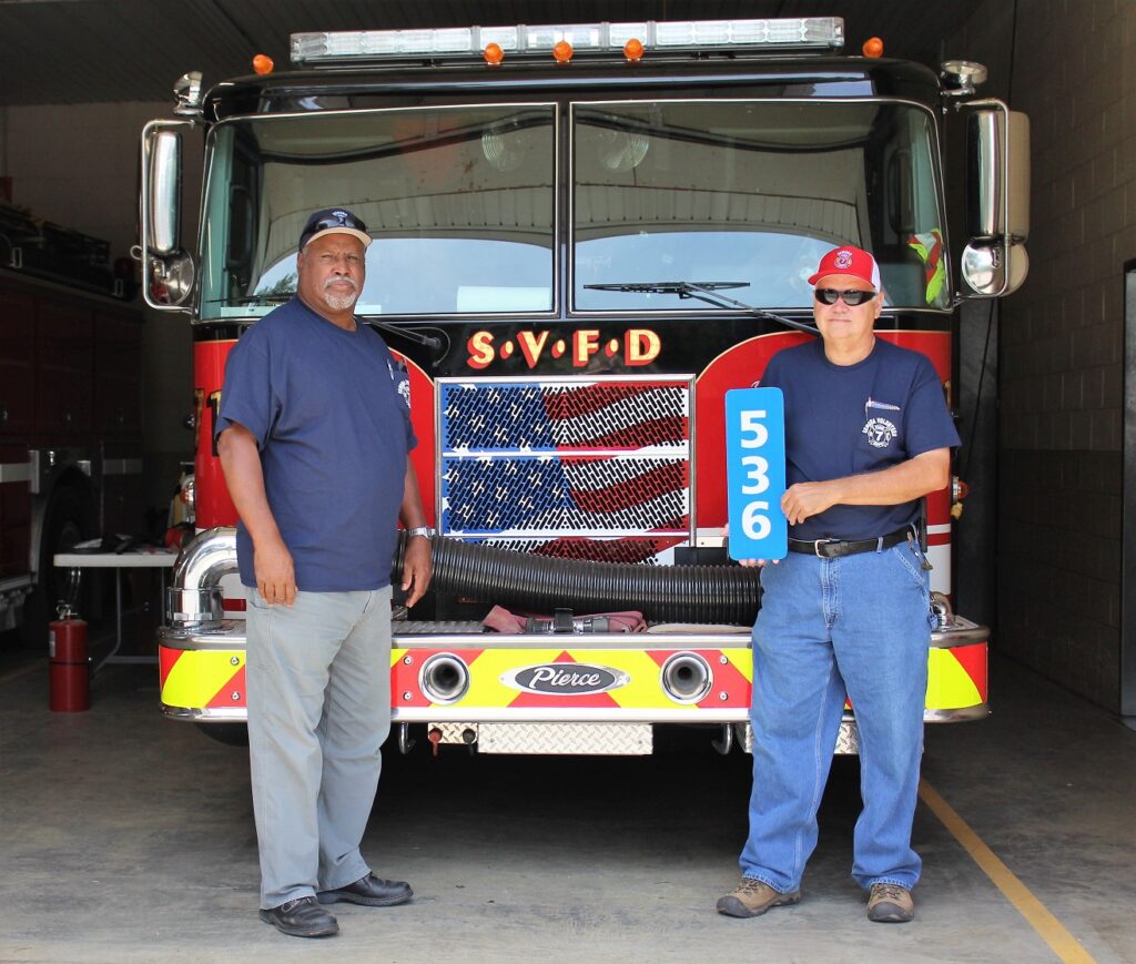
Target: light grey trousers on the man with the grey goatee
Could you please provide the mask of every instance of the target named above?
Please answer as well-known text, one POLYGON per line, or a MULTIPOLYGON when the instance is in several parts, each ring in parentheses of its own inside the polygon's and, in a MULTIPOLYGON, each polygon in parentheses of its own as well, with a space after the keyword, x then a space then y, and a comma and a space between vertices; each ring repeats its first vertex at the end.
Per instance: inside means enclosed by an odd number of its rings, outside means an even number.
POLYGON ((248 598, 249 761, 260 906, 366 877, 391 729, 391 587, 248 598))

